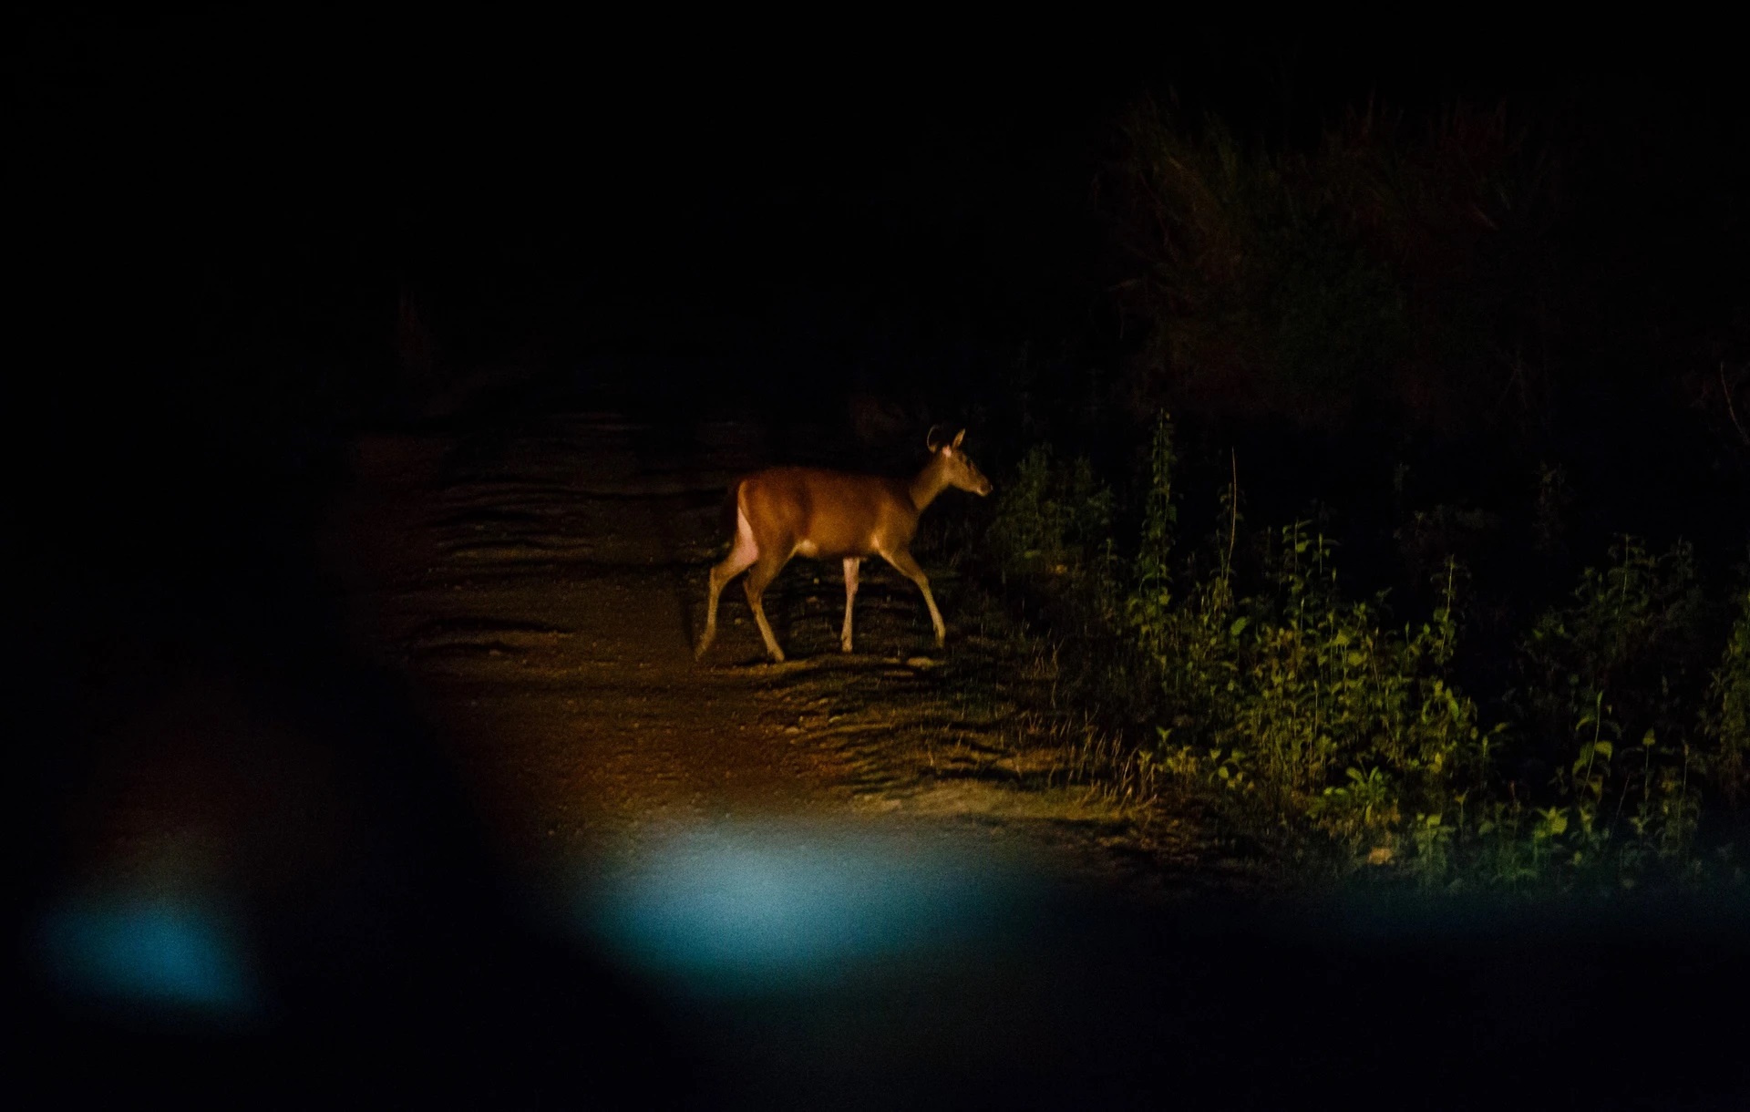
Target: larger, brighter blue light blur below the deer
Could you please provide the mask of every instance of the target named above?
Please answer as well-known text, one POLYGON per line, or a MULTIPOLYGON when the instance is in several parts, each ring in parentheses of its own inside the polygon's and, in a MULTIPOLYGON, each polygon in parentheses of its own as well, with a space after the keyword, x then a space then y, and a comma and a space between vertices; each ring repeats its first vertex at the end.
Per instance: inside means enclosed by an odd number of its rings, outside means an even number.
POLYGON ((943 844, 738 825, 656 844, 592 886, 584 916, 640 972, 784 991, 938 953, 1006 918, 1018 893, 1006 869, 943 844))

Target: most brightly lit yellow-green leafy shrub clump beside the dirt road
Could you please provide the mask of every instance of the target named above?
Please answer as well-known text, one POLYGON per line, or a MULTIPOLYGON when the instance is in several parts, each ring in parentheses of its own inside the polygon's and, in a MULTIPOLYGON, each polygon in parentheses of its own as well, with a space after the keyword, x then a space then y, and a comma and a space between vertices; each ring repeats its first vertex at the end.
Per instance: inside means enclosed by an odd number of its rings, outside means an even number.
POLYGON ((1351 856, 1393 856, 1404 816, 1416 814, 1433 855, 1446 844, 1440 816, 1480 783, 1498 734, 1446 671, 1458 566, 1447 562, 1430 622, 1393 632, 1382 601, 1342 597, 1332 541, 1295 522, 1267 538, 1262 590, 1236 595, 1228 489, 1211 573, 1174 574, 1172 466, 1162 419, 1127 608, 1160 690, 1157 760, 1186 785, 1216 788, 1248 825, 1312 830, 1351 856))

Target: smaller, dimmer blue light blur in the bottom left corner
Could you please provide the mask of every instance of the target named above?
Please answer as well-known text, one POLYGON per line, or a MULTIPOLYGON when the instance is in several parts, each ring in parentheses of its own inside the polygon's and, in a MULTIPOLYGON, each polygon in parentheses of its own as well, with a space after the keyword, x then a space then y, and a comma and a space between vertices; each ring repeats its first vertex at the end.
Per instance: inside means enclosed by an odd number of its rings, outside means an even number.
POLYGON ((261 993, 228 918, 186 898, 110 897, 66 904, 40 921, 38 956, 68 1002, 163 1017, 236 1021, 261 993))

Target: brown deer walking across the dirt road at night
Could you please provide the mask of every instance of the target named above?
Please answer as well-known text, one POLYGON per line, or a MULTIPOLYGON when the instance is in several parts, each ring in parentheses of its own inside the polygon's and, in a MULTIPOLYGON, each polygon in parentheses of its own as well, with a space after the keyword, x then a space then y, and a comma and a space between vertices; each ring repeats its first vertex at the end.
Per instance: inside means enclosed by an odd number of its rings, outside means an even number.
POLYGON ((784 662, 766 622, 761 599, 765 588, 791 557, 817 560, 844 560, 845 567, 845 625, 838 644, 850 651, 850 611, 858 597, 858 571, 863 560, 878 555, 894 571, 917 583, 929 608, 929 622, 936 630, 936 648, 947 641, 947 627, 936 597, 929 592, 929 576, 912 557, 912 538, 917 536, 917 518, 936 496, 957 487, 984 497, 990 494, 990 480, 961 452, 966 429, 952 441, 936 443, 934 429, 924 438, 929 462, 915 478, 886 478, 880 475, 847 475, 826 468, 768 468, 742 478, 735 494, 735 538, 730 555, 710 569, 710 588, 705 597, 705 636, 698 641, 693 658, 698 660, 718 636, 718 595, 735 576, 747 573, 744 587, 747 604, 760 623, 766 653, 774 662, 784 662))

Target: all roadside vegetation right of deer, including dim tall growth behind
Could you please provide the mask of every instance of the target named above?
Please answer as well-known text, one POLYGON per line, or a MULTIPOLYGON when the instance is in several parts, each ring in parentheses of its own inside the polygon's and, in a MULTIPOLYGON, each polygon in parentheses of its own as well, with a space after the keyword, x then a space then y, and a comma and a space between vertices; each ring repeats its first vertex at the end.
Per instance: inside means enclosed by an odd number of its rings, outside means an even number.
POLYGON ((1584 156, 1505 109, 1274 151, 1125 119, 1129 334, 1050 403, 1022 359, 970 557, 1052 646, 1083 783, 1288 881, 1743 883, 1750 373, 1729 326, 1619 345, 1584 156))

